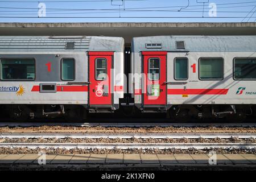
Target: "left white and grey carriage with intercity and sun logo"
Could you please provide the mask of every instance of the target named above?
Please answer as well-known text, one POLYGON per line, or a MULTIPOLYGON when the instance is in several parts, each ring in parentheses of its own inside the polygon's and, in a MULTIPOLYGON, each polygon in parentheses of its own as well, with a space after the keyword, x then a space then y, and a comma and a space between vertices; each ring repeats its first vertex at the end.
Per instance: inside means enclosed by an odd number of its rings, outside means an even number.
POLYGON ((104 36, 0 36, 0 104, 23 119, 116 110, 123 47, 104 36))

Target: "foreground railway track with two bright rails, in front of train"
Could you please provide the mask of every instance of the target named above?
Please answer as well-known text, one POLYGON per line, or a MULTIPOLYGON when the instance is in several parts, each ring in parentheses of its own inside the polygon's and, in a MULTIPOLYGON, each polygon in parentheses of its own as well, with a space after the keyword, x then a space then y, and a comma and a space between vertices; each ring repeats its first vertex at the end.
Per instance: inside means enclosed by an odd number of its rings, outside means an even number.
POLYGON ((197 133, 197 134, 71 134, 71 133, 1 133, 0 137, 2 138, 2 142, 0 143, 0 147, 26 147, 30 149, 35 148, 65 148, 66 150, 70 150, 73 148, 80 149, 120 149, 120 150, 131 150, 131 149, 181 149, 186 150, 189 148, 194 148, 196 150, 205 150, 210 148, 223 148, 223 149, 252 149, 256 148, 256 143, 247 143, 247 142, 237 142, 237 143, 134 143, 134 142, 126 142, 126 143, 77 143, 77 142, 3 142, 4 139, 20 139, 20 138, 46 138, 46 139, 60 139, 60 138, 105 138, 105 139, 115 139, 115 138, 139 138, 139 139, 164 139, 164 138, 172 138, 172 139, 180 139, 180 138, 188 138, 188 139, 196 139, 196 138, 204 138, 204 139, 229 139, 229 138, 256 138, 256 134, 254 133, 197 133))

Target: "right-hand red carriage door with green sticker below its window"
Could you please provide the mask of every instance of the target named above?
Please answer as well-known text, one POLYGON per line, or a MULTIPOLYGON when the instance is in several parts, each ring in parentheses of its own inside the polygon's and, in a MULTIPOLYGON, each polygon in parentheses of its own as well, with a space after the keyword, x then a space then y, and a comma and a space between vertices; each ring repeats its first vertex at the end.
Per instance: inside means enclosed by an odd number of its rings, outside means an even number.
POLYGON ((165 106, 166 92, 166 56, 164 51, 142 52, 144 85, 144 106, 165 106))

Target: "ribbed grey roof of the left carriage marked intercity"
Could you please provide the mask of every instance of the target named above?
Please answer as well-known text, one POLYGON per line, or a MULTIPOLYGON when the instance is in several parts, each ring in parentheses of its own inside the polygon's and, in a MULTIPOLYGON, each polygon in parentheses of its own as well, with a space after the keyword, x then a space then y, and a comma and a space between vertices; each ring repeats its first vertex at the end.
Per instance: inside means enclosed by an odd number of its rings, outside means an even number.
POLYGON ((123 52, 123 38, 105 36, 0 36, 0 51, 123 52))

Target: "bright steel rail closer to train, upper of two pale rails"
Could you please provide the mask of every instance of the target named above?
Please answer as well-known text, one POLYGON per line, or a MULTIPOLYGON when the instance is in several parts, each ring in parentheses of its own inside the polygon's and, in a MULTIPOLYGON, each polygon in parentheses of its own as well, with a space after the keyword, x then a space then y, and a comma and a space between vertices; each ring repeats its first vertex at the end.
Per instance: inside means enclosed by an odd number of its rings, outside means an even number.
POLYGON ((174 134, 134 134, 134 133, 119 133, 119 134, 101 134, 101 133, 0 133, 0 138, 256 138, 256 133, 174 133, 174 134))

